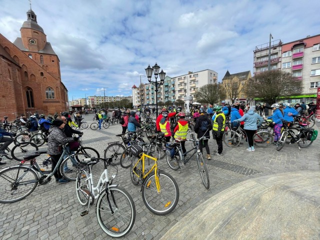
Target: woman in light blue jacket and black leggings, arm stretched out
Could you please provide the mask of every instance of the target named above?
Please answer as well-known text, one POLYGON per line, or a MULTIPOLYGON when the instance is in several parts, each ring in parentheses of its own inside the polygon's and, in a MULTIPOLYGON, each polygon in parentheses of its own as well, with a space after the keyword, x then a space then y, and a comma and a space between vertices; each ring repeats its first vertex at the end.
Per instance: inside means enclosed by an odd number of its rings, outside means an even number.
MULTIPOLYGON (((255 112, 255 106, 250 106, 247 113, 245 113, 241 118, 235 119, 235 122, 244 121, 244 131, 246 139, 248 142, 248 151, 255 151, 253 143, 253 135, 257 130, 257 127, 263 122, 263 118, 255 112), (258 123, 257 123, 258 122, 258 123)), ((232 123, 232 122, 231 122, 232 123)))

